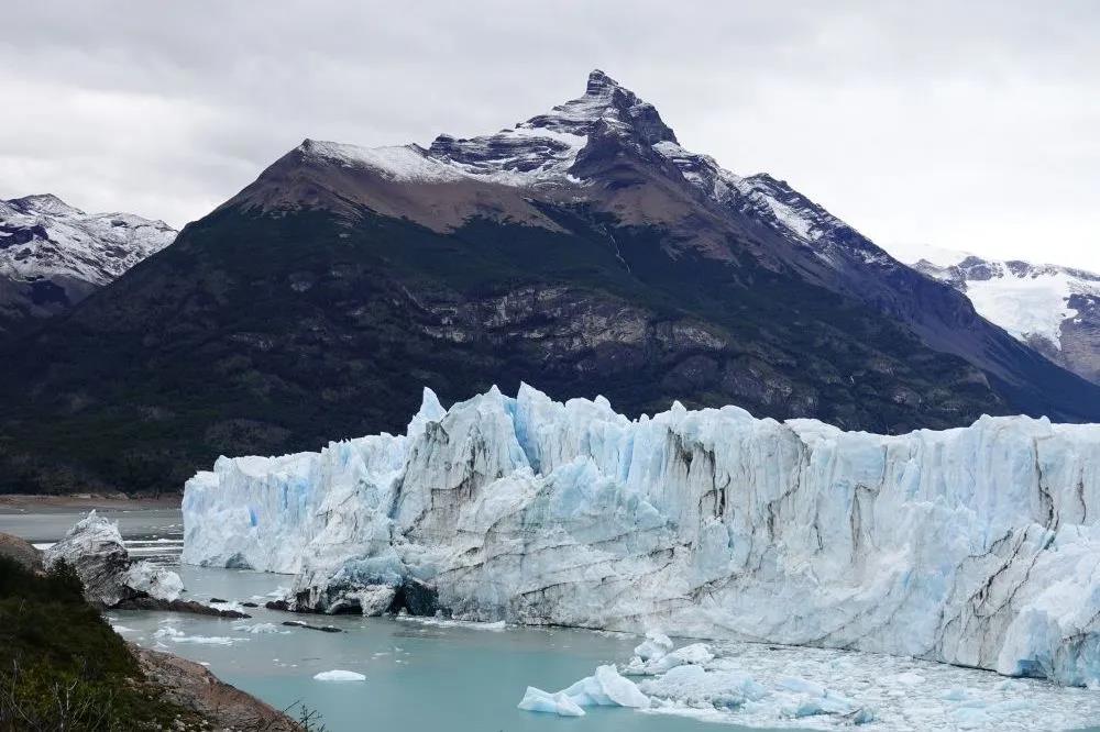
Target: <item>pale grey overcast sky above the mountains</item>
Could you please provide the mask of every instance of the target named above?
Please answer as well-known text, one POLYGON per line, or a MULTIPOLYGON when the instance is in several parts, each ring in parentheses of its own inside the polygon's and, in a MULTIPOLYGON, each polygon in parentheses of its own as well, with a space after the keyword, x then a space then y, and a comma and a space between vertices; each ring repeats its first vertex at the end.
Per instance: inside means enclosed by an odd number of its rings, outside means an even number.
POLYGON ((180 226, 304 137, 510 126, 602 68, 887 248, 1100 270, 1100 2, 25 2, 0 198, 180 226))

